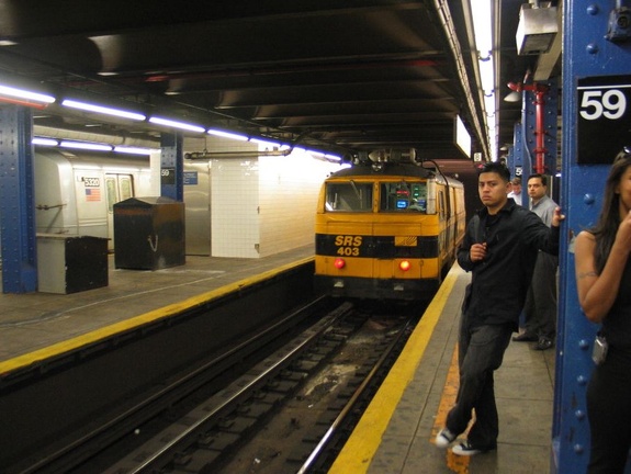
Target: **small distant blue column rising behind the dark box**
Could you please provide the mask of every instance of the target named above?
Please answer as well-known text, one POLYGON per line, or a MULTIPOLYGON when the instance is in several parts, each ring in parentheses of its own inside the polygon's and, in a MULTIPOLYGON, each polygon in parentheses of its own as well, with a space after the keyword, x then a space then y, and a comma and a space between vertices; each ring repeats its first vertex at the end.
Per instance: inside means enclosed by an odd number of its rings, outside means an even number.
POLYGON ((184 200, 184 153, 181 134, 160 137, 160 195, 176 201, 184 200))

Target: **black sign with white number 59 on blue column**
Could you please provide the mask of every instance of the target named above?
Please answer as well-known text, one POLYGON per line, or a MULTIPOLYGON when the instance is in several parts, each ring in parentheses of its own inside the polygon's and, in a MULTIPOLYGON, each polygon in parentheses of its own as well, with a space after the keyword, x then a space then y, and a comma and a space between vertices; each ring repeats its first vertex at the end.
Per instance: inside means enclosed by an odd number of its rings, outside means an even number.
POLYGON ((631 145, 631 76, 579 79, 577 90, 577 162, 611 165, 631 145))

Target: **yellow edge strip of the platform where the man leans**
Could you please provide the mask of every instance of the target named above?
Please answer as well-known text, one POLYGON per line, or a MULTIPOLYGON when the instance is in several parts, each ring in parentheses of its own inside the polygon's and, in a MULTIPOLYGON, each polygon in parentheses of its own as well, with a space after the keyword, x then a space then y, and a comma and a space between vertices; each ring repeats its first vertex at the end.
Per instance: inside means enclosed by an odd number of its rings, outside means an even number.
POLYGON ((448 273, 328 474, 360 474, 368 471, 394 410, 405 388, 414 379, 416 369, 458 280, 458 272, 460 272, 460 267, 455 266, 448 273))

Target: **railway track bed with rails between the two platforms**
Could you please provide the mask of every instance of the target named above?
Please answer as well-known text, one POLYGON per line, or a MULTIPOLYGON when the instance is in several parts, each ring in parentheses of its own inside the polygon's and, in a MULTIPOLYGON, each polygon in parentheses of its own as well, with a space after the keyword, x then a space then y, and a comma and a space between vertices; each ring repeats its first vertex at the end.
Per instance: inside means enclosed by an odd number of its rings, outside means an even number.
POLYGON ((326 472, 415 323, 330 307, 288 315, 20 472, 326 472))

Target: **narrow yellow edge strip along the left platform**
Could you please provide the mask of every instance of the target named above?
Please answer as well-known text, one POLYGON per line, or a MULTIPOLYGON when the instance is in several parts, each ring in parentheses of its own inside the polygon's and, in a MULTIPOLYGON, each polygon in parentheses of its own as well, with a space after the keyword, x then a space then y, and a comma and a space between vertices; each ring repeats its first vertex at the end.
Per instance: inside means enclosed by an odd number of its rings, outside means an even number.
POLYGON ((181 313, 183 311, 193 308, 195 306, 201 306, 205 303, 209 303, 213 300, 218 297, 225 296, 228 293, 241 290, 246 286, 250 286, 256 283, 263 282, 269 280, 283 271, 291 270, 294 267, 300 267, 302 264, 308 263, 313 261, 314 257, 307 257, 302 260, 297 260, 282 267, 274 268, 273 270, 269 270, 267 272, 257 274, 255 276, 248 276, 246 279, 239 280, 234 283, 228 283, 222 287, 216 290, 212 290, 206 293, 202 293, 198 296, 192 296, 188 300, 183 300, 178 303, 173 303, 171 305, 150 311, 148 313, 144 313, 138 316, 133 316, 129 319, 122 320, 120 323, 115 323, 110 326, 104 326, 103 328, 87 332, 81 336, 77 336, 75 338, 57 342, 55 345, 45 347, 43 349, 35 350, 33 352, 27 352, 23 356, 18 356, 16 358, 9 359, 7 361, 0 362, 0 376, 8 372, 12 372, 19 369, 24 369, 29 365, 35 364, 37 362, 45 361, 46 359, 61 356, 66 352, 69 352, 75 349, 79 349, 83 346, 88 346, 90 343, 97 342, 101 339, 106 337, 113 336, 119 332, 123 332, 129 329, 134 329, 136 327, 143 326, 147 323, 154 323, 156 320, 167 318, 174 314, 181 313))

